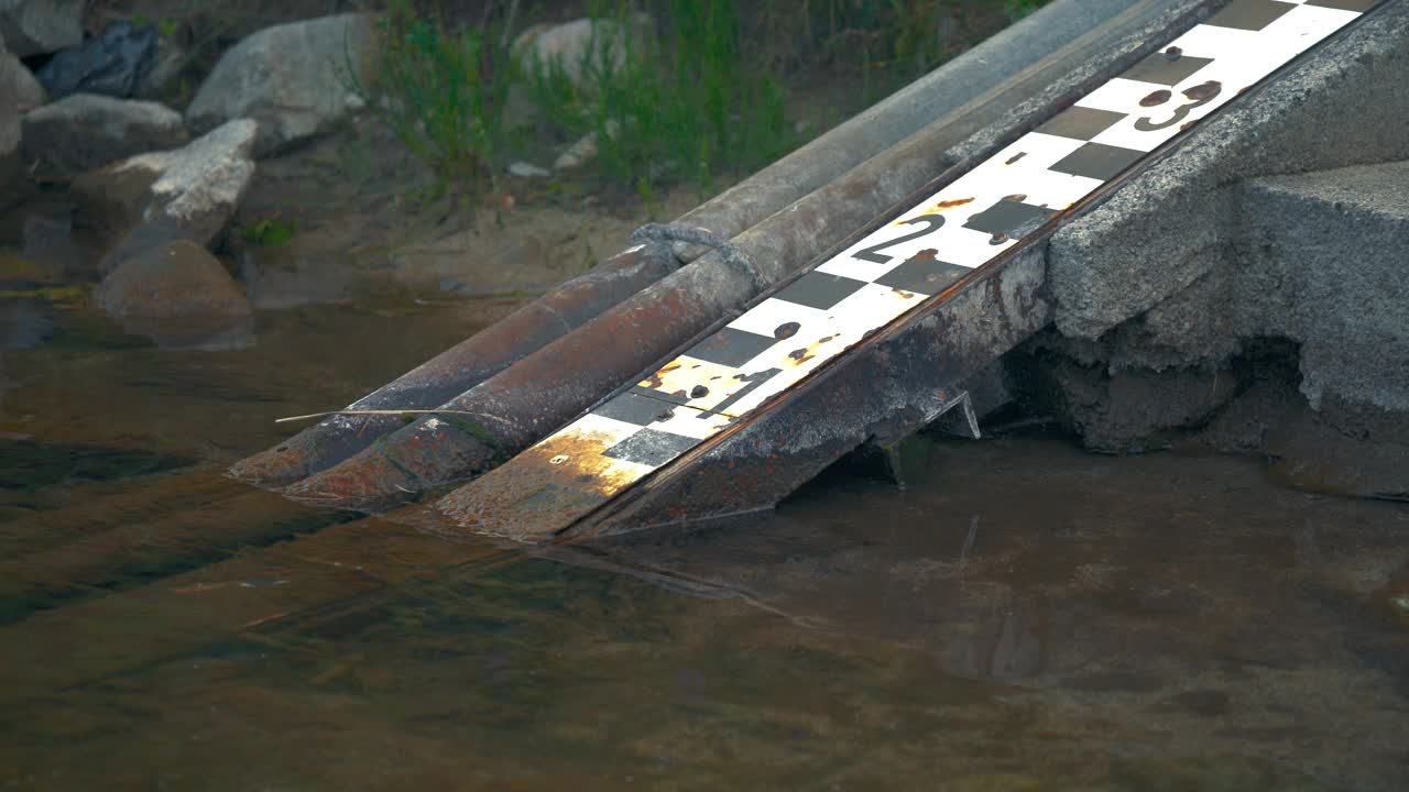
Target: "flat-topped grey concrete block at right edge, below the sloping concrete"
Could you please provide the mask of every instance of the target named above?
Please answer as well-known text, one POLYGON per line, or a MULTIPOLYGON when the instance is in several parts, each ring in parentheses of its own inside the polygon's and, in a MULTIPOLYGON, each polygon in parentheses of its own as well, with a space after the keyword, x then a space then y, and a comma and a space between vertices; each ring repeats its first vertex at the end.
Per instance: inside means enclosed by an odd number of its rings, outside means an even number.
POLYGON ((1302 344, 1302 392, 1409 410, 1409 162, 1244 186, 1234 299, 1302 344))

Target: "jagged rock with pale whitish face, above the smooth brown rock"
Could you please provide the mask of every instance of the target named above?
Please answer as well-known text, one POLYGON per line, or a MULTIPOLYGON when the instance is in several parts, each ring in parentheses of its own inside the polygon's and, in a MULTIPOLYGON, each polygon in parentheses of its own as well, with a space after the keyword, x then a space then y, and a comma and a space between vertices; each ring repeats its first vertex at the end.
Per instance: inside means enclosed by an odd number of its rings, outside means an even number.
POLYGON ((110 238, 169 221, 183 238, 209 244, 249 189, 256 128, 248 118, 230 121, 185 148, 142 154, 79 176, 72 193, 80 220, 110 238))

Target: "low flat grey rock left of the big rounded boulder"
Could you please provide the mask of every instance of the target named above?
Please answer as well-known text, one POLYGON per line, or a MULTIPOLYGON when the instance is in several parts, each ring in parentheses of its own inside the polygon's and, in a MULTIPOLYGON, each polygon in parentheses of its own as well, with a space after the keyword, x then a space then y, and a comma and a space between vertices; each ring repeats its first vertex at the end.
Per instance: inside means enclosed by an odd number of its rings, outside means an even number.
POLYGON ((24 117, 24 151, 66 173, 187 141, 180 113, 155 101, 76 93, 24 117))

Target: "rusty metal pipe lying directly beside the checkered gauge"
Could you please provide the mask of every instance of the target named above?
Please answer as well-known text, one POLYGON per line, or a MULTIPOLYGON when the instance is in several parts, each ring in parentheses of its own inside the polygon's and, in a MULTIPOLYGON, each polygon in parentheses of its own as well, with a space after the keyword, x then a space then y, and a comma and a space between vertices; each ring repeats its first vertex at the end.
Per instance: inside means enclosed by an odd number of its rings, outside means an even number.
MULTIPOLYGON (((1102 37, 1116 34, 1129 30, 1117 25, 1102 37)), ((733 245, 752 259, 751 272, 740 272, 717 252, 709 254, 441 404, 445 413, 417 420, 286 492, 310 502, 379 509, 496 466, 926 187, 955 163, 961 144, 1022 101, 1069 103, 1072 90, 1060 80, 1071 79, 1092 45, 1076 42, 1034 65, 955 117, 931 124, 740 234, 733 245), (1048 89, 1057 93, 1047 96, 1048 89)), ((1095 82, 1113 66, 1085 68, 1085 80, 1095 82)), ((1009 127, 1009 134, 1017 132, 1009 127)))

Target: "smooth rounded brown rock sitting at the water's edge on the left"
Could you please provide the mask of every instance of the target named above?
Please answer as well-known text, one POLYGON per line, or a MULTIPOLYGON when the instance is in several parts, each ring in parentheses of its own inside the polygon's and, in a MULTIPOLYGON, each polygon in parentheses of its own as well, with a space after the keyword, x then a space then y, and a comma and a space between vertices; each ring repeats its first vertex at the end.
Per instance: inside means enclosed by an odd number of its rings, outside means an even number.
POLYGON ((252 341, 254 310, 206 248, 173 240, 134 252, 99 283, 99 304, 130 333, 170 347, 252 341))

